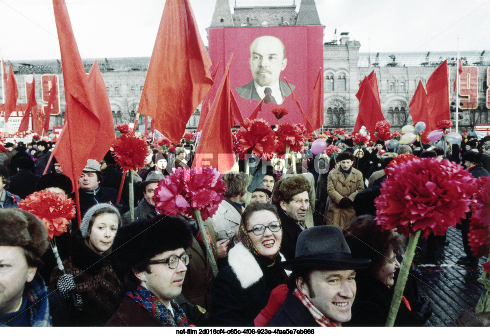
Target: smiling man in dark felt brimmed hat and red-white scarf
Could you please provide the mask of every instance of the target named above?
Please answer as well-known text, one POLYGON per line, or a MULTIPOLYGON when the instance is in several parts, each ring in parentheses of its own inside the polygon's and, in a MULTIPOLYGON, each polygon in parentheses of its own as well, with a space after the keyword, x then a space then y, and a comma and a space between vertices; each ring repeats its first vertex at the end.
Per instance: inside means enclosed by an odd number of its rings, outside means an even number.
POLYGON ((296 257, 282 262, 293 270, 289 292, 269 326, 335 327, 351 318, 356 296, 356 269, 369 266, 368 258, 353 258, 336 226, 303 231, 296 257))

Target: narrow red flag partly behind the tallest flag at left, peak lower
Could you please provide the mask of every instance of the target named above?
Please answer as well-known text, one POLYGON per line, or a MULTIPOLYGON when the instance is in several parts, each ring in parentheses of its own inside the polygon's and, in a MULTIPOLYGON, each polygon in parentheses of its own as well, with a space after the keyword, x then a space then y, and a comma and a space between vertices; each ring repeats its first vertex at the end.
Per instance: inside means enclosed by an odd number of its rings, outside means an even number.
POLYGON ((92 148, 92 152, 88 158, 100 162, 111 148, 114 139, 116 139, 116 133, 114 132, 111 103, 109 102, 106 85, 98 68, 97 60, 92 64, 88 81, 96 108, 94 112, 100 121, 100 128, 97 133, 97 145, 92 148))

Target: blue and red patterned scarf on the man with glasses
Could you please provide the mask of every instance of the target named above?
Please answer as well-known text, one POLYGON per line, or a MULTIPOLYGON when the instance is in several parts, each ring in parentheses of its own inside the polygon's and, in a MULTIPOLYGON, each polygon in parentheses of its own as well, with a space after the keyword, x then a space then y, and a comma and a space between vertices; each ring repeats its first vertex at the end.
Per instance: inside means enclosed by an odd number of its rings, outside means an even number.
POLYGON ((175 302, 170 304, 175 314, 175 319, 172 312, 157 299, 157 297, 143 286, 138 286, 138 289, 132 292, 126 292, 126 295, 133 299, 140 306, 152 313, 166 327, 188 327, 187 317, 184 310, 175 302))

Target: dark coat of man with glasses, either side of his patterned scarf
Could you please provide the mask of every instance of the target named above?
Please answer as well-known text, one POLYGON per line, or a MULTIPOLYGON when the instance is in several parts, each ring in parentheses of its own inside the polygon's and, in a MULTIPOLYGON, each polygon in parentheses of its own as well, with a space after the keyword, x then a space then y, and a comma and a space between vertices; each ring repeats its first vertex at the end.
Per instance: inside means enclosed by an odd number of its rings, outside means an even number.
MULTIPOLYGON (((175 302, 184 310, 189 325, 208 326, 209 314, 189 302, 182 294, 175 302)), ((129 296, 124 296, 119 309, 105 324, 106 327, 163 327, 163 324, 148 310, 141 307, 129 296)))

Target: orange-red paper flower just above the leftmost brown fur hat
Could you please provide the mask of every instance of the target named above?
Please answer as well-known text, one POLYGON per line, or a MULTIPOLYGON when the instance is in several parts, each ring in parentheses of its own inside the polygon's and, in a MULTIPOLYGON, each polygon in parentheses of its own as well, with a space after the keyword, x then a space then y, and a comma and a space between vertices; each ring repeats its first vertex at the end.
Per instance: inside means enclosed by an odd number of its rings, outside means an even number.
POLYGON ((53 191, 36 191, 28 195, 19 202, 18 209, 30 212, 39 218, 48 230, 49 239, 67 232, 67 225, 75 218, 73 201, 53 191))

